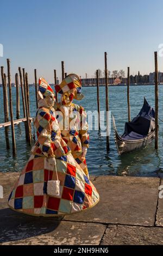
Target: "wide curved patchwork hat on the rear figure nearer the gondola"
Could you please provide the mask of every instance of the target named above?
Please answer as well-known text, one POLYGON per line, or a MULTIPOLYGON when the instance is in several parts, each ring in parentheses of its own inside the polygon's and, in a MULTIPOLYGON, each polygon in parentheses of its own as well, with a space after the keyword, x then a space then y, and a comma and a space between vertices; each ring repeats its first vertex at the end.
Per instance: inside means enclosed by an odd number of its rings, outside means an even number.
POLYGON ((60 94, 72 91, 76 100, 82 100, 84 97, 82 94, 82 81, 76 74, 66 76, 60 84, 55 86, 55 91, 60 94))

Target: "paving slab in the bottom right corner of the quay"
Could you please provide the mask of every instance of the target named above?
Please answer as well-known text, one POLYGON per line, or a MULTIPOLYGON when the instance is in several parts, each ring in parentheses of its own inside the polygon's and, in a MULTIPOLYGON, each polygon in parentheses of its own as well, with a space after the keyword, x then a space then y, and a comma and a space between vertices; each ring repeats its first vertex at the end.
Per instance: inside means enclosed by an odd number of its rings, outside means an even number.
POLYGON ((163 245, 163 229, 108 225, 101 245, 163 245))

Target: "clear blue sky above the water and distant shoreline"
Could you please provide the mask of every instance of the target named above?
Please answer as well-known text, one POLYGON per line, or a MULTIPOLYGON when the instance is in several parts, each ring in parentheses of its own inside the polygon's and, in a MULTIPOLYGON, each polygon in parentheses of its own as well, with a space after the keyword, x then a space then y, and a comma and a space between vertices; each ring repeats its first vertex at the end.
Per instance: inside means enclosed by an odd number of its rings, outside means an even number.
MULTIPOLYGON (((38 76, 53 82, 53 69, 85 72, 91 77, 104 69, 131 74, 154 70, 154 51, 163 44, 162 0, 15 0, 1 1, 0 44, 11 59, 12 81, 18 66, 26 68, 29 82, 38 76)), ((159 57, 163 71, 163 57, 159 57)), ((1 81, 1 80, 0 80, 1 81)))

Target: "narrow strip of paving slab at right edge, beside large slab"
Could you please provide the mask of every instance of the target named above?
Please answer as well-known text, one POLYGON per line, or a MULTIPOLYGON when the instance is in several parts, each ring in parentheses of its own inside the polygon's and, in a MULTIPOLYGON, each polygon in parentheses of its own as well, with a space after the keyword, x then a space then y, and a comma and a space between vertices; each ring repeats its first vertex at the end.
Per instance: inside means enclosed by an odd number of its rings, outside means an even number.
POLYGON ((156 226, 163 227, 163 179, 160 182, 161 190, 159 191, 158 209, 156 212, 156 226))

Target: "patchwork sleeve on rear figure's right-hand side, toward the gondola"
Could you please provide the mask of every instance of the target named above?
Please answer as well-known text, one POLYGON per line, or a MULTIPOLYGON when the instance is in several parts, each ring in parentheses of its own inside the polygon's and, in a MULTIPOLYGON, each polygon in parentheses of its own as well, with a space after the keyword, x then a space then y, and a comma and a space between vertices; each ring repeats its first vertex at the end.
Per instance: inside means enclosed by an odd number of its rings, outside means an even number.
POLYGON ((89 134, 87 133, 89 126, 86 121, 86 111, 80 106, 80 130, 79 137, 81 139, 82 147, 89 148, 89 134))

